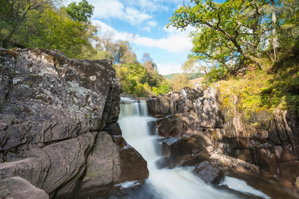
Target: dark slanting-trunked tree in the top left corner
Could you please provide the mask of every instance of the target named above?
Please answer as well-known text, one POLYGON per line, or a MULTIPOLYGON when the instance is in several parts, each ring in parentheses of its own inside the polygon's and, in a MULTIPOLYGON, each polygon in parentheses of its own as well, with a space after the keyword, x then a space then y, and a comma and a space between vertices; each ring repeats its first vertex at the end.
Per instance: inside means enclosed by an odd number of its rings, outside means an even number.
MULTIPOLYGON (((7 48, 7 42, 11 39, 16 30, 20 27, 24 20, 28 19, 28 12, 30 10, 39 10, 46 7, 54 7, 54 4, 59 0, 12 0, 9 1, 10 7, 10 30, 7 36, 2 40, 2 47, 7 48)), ((5 1, 1 1, 1 7, 4 6, 5 1)), ((7 2, 6 2, 7 3, 7 2)))

